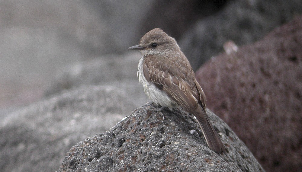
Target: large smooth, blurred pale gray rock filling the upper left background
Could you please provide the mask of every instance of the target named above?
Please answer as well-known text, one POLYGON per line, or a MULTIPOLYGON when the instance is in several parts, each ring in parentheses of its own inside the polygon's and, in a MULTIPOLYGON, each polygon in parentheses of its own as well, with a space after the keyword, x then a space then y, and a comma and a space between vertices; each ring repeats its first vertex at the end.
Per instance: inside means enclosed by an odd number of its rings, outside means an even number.
POLYGON ((0 108, 40 100, 67 64, 127 51, 152 0, 136 2, 1 1, 0 108))

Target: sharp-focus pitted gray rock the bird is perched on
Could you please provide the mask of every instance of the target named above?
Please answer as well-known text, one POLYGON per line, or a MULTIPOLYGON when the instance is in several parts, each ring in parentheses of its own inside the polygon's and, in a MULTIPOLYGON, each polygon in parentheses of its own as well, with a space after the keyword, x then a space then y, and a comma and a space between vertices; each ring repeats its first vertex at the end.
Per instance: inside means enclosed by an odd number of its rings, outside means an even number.
POLYGON ((207 147, 192 115, 157 108, 147 103, 107 132, 79 142, 66 154, 57 172, 264 171, 243 142, 214 113, 208 111, 209 118, 227 150, 221 156, 207 147), (192 130, 197 134, 191 134, 192 130))

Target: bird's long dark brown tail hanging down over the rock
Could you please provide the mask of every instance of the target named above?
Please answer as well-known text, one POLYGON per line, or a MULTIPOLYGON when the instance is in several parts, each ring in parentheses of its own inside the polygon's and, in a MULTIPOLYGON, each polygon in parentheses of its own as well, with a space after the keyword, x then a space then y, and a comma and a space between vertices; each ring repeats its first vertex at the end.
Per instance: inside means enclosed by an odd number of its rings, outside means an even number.
POLYGON ((223 143, 221 142, 214 127, 210 123, 205 111, 204 111, 204 113, 205 113, 204 114, 205 118, 202 118, 202 119, 197 118, 197 121, 201 127, 201 130, 204 134, 204 138, 206 139, 208 146, 210 147, 210 149, 212 149, 216 153, 219 153, 219 154, 221 154, 222 152, 225 153, 226 150, 224 148, 223 143))

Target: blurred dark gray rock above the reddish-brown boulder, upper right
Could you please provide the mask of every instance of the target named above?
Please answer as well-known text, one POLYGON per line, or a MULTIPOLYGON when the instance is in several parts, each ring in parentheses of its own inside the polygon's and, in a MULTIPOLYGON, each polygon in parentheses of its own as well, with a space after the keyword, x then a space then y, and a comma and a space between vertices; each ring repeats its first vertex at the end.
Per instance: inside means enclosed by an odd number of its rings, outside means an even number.
POLYGON ((223 44, 255 42, 302 12, 300 0, 237 0, 217 14, 197 20, 179 39, 194 70, 223 52, 223 44))

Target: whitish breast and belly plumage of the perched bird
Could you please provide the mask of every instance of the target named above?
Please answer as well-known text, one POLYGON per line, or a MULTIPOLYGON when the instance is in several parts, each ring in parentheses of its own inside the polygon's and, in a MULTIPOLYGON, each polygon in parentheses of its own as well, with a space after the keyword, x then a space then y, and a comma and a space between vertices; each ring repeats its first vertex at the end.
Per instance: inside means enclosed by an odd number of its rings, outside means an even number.
POLYGON ((159 90, 152 82, 148 82, 143 73, 144 56, 138 63, 137 77, 141 84, 143 84, 144 91, 147 96, 155 103, 162 107, 176 107, 177 104, 164 91, 159 90))

